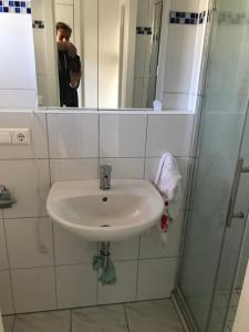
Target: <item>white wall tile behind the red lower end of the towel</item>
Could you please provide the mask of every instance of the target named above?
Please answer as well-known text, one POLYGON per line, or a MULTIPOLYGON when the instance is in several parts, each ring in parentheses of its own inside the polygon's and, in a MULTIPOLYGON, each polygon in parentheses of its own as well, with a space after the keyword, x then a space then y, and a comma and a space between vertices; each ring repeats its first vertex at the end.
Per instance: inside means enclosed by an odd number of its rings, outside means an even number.
POLYGON ((180 243, 183 212, 169 224, 166 245, 159 238, 159 231, 154 228, 141 236, 139 258, 175 257, 180 243))

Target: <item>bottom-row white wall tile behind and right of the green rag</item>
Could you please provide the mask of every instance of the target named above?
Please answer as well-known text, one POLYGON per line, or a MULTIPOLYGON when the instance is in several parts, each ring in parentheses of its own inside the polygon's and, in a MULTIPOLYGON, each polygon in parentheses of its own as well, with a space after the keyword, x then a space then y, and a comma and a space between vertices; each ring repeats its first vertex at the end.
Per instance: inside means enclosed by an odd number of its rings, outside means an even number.
POLYGON ((98 281, 98 304, 135 301, 137 261, 114 261, 116 283, 104 284, 98 281))

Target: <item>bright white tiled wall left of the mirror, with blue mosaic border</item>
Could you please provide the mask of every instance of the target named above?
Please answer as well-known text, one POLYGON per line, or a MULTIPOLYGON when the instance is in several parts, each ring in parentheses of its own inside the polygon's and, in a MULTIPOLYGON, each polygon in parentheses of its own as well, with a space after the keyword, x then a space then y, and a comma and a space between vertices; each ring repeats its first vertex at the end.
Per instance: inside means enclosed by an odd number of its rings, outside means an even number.
POLYGON ((4 50, 0 55, 0 106, 33 107, 37 80, 30 1, 19 1, 19 7, 1 1, 0 10, 4 50))

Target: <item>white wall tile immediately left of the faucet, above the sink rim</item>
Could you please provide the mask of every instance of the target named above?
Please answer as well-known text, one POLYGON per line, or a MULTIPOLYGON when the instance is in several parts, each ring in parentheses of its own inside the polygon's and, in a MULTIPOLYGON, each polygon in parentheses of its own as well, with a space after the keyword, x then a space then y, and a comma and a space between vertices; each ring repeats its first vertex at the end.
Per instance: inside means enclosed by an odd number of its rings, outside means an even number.
POLYGON ((51 181, 94 179, 98 176, 98 159, 50 159, 51 181))

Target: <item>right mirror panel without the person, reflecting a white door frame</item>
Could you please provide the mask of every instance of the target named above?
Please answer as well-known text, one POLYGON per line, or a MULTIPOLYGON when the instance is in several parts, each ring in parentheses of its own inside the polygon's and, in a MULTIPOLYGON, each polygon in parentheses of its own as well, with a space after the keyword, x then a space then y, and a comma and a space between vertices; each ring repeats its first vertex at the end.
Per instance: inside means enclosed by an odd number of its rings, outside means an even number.
POLYGON ((153 107, 159 91, 157 73, 163 2, 165 1, 100 1, 101 108, 153 107))

